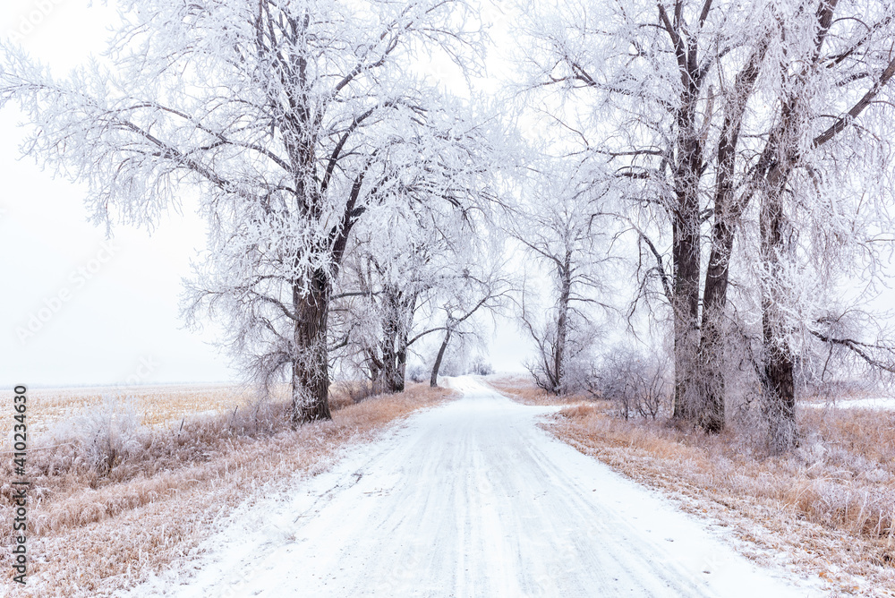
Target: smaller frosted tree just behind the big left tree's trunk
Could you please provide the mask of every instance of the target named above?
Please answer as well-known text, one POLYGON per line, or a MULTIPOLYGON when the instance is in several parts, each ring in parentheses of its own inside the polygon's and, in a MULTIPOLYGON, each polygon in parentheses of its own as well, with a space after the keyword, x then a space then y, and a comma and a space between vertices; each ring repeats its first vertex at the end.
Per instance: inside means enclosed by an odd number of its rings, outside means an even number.
POLYGON ((456 264, 469 263, 477 245, 481 231, 468 214, 437 207, 408 197, 378 209, 356 231, 337 286, 343 359, 380 391, 404 390, 409 352, 437 330, 430 304, 455 285, 456 264))

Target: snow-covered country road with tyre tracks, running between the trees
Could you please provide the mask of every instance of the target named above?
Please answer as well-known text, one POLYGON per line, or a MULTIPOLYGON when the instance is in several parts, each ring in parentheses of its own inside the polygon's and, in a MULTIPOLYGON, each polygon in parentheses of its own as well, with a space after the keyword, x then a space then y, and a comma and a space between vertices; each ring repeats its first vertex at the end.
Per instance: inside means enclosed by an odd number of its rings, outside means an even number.
POLYGON ((550 408, 452 386, 464 397, 238 509, 200 557, 133 595, 821 595, 550 438, 536 425, 550 408))

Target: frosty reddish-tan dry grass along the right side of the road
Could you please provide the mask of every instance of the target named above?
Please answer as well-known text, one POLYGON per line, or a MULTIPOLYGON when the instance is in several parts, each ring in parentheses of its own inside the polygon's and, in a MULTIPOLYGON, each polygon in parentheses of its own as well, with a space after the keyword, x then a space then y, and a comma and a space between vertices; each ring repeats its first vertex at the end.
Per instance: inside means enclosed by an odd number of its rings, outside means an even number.
MULTIPOLYGON (((489 381, 526 404, 551 403, 527 380, 489 381)), ((567 397, 577 405, 560 409, 545 429, 667 492, 685 510, 730 526, 751 558, 787 555, 836 594, 895 596, 895 413, 802 409, 801 446, 771 457, 750 431, 706 436, 624 421, 609 402, 583 399, 567 397)))

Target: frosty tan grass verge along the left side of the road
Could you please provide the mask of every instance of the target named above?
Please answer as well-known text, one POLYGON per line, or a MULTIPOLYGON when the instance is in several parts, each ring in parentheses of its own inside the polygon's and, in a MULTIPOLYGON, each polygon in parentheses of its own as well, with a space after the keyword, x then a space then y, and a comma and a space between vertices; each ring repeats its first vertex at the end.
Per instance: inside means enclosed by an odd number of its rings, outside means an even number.
MULTIPOLYGON (((396 418, 433 406, 448 394, 412 385, 405 393, 357 404, 336 394, 331 422, 298 430, 289 426, 286 402, 213 415, 204 414, 209 406, 200 403, 193 408, 203 414, 166 417, 174 423, 155 427, 135 424, 130 412, 139 408, 139 399, 130 406, 88 403, 70 423, 31 441, 32 560, 24 590, 12 582, 5 550, 11 543, 12 490, 8 483, 0 486, 0 594, 4 588, 11 596, 112 594, 186 554, 241 501, 294 475, 319 473, 340 449, 371 440, 396 418), (95 446, 98 439, 114 449, 95 446), (111 460, 96 458, 112 453, 111 460)), ((243 394, 230 398, 239 405, 243 394)), ((180 415, 176 395, 169 400, 180 415)), ((0 463, 0 479, 12 478, 8 461, 0 463)))

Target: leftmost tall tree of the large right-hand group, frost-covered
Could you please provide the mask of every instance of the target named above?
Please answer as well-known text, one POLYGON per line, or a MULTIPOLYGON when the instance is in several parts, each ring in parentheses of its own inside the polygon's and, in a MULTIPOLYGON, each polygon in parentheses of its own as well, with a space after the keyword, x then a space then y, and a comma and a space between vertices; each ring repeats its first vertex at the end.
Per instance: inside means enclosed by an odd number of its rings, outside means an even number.
POLYGON ((582 156, 614 167, 655 264, 644 272, 661 282, 670 307, 675 416, 699 419, 701 238, 711 215, 703 177, 718 89, 712 77, 720 59, 754 34, 743 23, 761 26, 761 11, 711 0, 579 0, 529 13, 525 31, 536 43, 523 56, 527 87, 544 94, 543 109, 571 132, 582 156))

